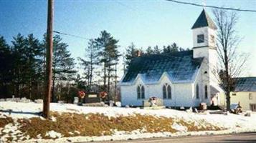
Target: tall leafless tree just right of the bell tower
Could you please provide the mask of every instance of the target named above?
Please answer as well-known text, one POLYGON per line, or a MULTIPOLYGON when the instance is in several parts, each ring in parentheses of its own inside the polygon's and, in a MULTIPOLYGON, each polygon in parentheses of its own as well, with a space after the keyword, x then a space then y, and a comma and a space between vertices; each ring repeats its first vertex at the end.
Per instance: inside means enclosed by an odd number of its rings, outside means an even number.
POLYGON ((241 38, 237 35, 235 26, 238 16, 234 11, 223 9, 213 10, 217 24, 217 52, 219 54, 219 67, 217 74, 219 82, 226 96, 227 111, 230 110, 230 92, 234 90, 235 77, 239 77, 247 56, 237 52, 241 38))

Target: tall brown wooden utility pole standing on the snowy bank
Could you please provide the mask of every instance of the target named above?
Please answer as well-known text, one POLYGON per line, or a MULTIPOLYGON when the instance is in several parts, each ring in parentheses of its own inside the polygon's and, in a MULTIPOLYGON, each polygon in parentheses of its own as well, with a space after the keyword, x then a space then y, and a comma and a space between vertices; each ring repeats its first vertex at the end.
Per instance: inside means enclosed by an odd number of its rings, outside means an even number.
POLYGON ((44 107, 43 117, 49 119, 49 102, 52 89, 52 29, 53 29, 53 1, 48 0, 47 16, 47 47, 46 47, 46 71, 44 81, 44 107))

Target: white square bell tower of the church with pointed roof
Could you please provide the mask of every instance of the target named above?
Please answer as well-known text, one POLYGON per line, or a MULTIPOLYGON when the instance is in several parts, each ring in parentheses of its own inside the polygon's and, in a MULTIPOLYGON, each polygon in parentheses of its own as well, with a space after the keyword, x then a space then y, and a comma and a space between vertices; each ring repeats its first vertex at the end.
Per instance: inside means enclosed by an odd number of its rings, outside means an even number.
POLYGON ((193 58, 204 58, 200 84, 204 102, 209 103, 210 99, 205 95, 211 94, 210 86, 218 84, 217 77, 214 75, 214 69, 217 68, 218 63, 216 48, 217 26, 203 9, 191 29, 193 32, 193 58))

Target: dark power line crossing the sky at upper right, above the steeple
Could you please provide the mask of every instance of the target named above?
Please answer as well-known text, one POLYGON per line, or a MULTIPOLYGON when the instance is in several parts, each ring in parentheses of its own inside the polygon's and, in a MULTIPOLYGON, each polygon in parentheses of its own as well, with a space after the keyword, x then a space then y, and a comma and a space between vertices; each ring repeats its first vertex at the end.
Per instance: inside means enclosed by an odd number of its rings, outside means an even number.
POLYGON ((176 1, 176 0, 166 0, 166 1, 171 1, 171 2, 178 3, 178 4, 187 4, 187 5, 192 5, 192 6, 209 7, 209 8, 213 8, 213 9, 224 9, 224 10, 232 10, 232 11, 256 12, 256 10, 250 10, 250 9, 234 9, 234 8, 229 8, 229 7, 207 6, 207 5, 204 5, 204 4, 194 4, 194 3, 190 3, 190 2, 176 1))

